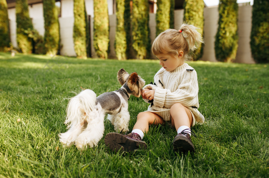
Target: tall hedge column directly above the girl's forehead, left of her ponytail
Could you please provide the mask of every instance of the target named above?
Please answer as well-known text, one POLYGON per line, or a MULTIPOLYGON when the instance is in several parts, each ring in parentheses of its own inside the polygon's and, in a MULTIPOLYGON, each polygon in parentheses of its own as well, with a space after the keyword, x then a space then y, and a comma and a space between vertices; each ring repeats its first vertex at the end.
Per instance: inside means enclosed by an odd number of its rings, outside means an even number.
POLYGON ((156 36, 170 27, 170 1, 158 0, 156 12, 156 36))

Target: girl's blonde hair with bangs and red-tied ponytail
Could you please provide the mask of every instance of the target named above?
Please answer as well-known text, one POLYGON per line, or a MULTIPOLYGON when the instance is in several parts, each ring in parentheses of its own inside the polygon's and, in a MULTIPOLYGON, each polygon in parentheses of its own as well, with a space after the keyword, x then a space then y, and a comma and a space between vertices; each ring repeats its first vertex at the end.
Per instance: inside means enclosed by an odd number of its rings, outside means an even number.
POLYGON ((172 56, 178 56, 178 52, 182 50, 183 59, 192 60, 190 53, 200 43, 204 43, 204 41, 196 27, 182 24, 179 30, 167 29, 160 33, 153 41, 151 50, 154 55, 169 54, 172 56))

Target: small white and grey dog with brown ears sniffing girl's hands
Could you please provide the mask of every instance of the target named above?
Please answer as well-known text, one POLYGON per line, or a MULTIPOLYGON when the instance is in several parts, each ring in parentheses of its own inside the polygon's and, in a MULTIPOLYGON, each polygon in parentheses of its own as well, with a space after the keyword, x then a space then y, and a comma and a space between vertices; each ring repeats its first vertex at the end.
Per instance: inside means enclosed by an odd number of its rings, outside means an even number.
POLYGON ((96 97, 92 90, 86 89, 70 99, 65 120, 69 130, 59 134, 64 146, 74 143, 77 149, 97 146, 104 134, 105 113, 115 131, 129 131, 128 100, 131 94, 140 97, 145 81, 136 72, 128 74, 124 69, 118 71, 117 77, 122 87, 116 91, 96 97))

